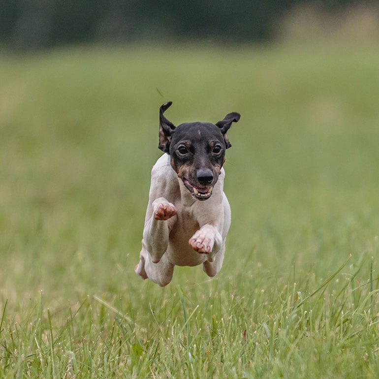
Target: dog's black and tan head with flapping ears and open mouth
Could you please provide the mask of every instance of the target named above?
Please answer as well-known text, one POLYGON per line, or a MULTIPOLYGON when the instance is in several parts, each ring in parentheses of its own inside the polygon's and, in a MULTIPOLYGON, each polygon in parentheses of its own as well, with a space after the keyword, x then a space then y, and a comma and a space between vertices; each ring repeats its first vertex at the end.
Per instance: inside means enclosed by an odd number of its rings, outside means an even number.
POLYGON ((192 196, 206 200, 219 178, 225 150, 231 146, 226 132, 241 115, 233 112, 216 124, 195 122, 175 127, 163 115, 171 104, 159 108, 158 147, 170 155, 172 168, 192 196))

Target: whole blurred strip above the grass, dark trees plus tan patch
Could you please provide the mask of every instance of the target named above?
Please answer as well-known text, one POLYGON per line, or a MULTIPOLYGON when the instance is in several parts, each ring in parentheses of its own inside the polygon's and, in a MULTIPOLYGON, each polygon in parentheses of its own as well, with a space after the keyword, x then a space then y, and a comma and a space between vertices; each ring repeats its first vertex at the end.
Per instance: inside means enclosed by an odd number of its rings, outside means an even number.
POLYGON ((83 42, 235 44, 294 33, 377 33, 377 21, 377 1, 2 0, 0 41, 17 51, 83 42))

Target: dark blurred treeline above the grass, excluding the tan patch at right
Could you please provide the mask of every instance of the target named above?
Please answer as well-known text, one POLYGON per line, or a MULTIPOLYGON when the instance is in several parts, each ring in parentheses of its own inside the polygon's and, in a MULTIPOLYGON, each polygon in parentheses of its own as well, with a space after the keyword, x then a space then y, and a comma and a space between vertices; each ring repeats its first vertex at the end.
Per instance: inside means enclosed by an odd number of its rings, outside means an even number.
MULTIPOLYGON (((359 1, 320 0, 336 11, 359 1)), ((1 0, 0 44, 18 50, 93 41, 267 40, 284 12, 314 0, 1 0)))

